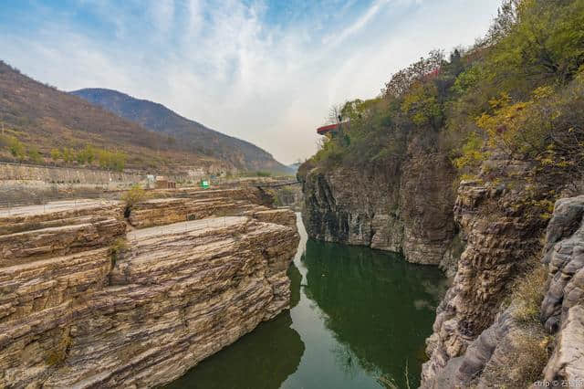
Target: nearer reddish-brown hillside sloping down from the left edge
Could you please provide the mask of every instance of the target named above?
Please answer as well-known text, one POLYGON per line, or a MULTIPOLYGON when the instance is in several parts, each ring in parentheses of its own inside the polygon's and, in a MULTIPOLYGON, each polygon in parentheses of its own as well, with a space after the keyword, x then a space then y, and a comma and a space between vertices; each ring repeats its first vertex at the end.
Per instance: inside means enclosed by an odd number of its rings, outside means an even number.
POLYGON ((98 156, 109 153, 123 155, 125 166, 136 169, 176 171, 185 165, 214 165, 217 169, 231 166, 31 79, 1 60, 0 122, 0 159, 7 161, 70 165, 76 163, 81 150, 90 146, 95 160, 92 157, 83 164, 96 164, 98 156), (49 159, 57 149, 61 157, 49 159), (67 158, 63 157, 66 153, 67 158))

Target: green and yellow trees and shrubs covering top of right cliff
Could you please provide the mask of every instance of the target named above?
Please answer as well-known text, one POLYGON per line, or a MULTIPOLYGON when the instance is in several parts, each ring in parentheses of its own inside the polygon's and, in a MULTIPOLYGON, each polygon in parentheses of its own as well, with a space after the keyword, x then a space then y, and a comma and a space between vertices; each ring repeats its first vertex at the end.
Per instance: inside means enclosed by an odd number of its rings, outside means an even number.
POLYGON ((537 178, 581 180, 583 91, 584 0, 505 0, 474 46, 433 51, 375 99, 339 107, 350 126, 300 171, 402 160, 421 135, 418 146, 446 152, 465 179, 495 154, 533 163, 537 178))

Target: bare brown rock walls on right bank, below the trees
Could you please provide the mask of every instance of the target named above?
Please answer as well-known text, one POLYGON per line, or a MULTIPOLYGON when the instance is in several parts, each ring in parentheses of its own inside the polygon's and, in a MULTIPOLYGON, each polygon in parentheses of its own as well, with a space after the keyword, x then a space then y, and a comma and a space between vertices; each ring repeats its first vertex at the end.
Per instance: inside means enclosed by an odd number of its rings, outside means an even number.
POLYGON ((423 388, 520 387, 542 368, 550 383, 582 379, 584 197, 565 190, 547 220, 526 200, 527 186, 516 184, 528 174, 527 163, 492 158, 486 164, 484 172, 506 179, 490 183, 484 173, 460 182, 452 197, 452 183, 433 179, 448 173, 437 173, 436 163, 424 173, 392 164, 366 173, 308 166, 299 175, 308 234, 398 251, 451 277, 426 341, 423 388), (422 245, 412 250, 413 242, 422 245), (534 273, 543 274, 534 286, 543 302, 527 315, 525 297, 514 291, 534 273))

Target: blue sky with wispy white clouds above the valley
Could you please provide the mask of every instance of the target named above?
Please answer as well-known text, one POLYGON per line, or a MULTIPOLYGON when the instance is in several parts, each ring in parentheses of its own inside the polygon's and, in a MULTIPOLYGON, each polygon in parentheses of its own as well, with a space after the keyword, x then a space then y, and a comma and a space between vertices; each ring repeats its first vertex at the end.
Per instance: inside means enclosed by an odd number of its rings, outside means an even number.
POLYGON ((271 152, 317 151, 346 100, 429 51, 472 45, 500 0, 1 0, 0 59, 61 90, 109 88, 271 152))

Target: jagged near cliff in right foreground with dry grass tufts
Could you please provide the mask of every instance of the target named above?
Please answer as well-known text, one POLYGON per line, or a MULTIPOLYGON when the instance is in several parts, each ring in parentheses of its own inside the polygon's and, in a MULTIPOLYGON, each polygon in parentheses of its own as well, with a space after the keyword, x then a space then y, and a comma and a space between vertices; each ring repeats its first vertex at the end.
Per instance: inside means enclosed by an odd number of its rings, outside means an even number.
MULTIPOLYGON (((468 198, 464 194, 471 192, 474 198, 488 195, 491 201, 508 197, 505 191, 487 193, 469 183, 461 188, 457 205, 468 198)), ((476 203, 467 204, 474 204, 476 211, 476 203)), ((480 216, 468 213, 473 207, 466 209, 468 218, 480 223, 480 216)), ((460 206, 456 213, 461 215, 460 206)), ((476 227, 469 237, 469 242, 473 239, 475 243, 469 244, 464 252, 454 287, 439 309, 429 342, 431 360, 424 364, 422 387, 513 386, 513 380, 525 384, 526 379, 527 384, 543 379, 548 387, 564 387, 584 378, 581 349, 584 343, 584 273, 581 271, 584 268, 584 196, 558 200, 547 225, 543 248, 537 242, 541 222, 529 222, 528 218, 518 216, 512 225, 501 228, 501 216, 496 220, 498 224, 491 224, 493 238, 477 237, 480 228, 476 227), (495 241, 495 246, 487 244, 495 241), (474 259, 472 266, 471 251, 478 247, 483 247, 483 261, 474 259), (485 247, 491 247, 492 255, 485 247), (510 283, 509 271, 519 271, 518 263, 532 255, 544 264, 547 282, 538 281, 543 295, 538 320, 526 321, 525 308, 522 308, 524 297, 512 294, 505 308, 502 292, 510 293, 506 289, 510 283), (491 282, 477 282, 477 275, 491 282), (495 292, 486 293, 483 286, 495 292), (473 299, 473 295, 481 299, 473 299), (473 312, 473 306, 482 311, 473 312), (464 332, 465 329, 471 331, 464 332)), ((507 219, 507 223, 511 221, 507 219)))

